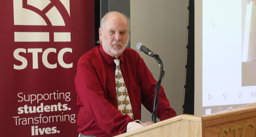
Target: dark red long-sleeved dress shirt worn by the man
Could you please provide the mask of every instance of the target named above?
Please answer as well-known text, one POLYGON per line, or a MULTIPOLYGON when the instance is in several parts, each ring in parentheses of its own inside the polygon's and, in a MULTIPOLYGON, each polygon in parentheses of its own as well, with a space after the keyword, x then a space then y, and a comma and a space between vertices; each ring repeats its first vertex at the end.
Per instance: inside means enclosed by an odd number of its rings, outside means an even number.
MULTIPOLYGON (((141 103, 152 113, 156 80, 139 54, 126 48, 120 68, 127 85, 135 120, 141 120, 141 103)), ((102 45, 84 54, 78 61, 75 77, 78 132, 97 137, 116 136, 126 132, 133 121, 118 111, 115 89, 115 57, 103 51, 102 45)), ((161 121, 176 116, 162 86, 156 117, 161 121)))

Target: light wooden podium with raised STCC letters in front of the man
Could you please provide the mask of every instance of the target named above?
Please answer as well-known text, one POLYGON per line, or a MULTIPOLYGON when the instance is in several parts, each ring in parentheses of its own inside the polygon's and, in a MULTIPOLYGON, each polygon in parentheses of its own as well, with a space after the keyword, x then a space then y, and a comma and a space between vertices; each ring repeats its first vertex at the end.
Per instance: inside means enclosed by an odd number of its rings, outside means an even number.
POLYGON ((255 137, 256 103, 210 115, 179 115, 115 137, 255 137))

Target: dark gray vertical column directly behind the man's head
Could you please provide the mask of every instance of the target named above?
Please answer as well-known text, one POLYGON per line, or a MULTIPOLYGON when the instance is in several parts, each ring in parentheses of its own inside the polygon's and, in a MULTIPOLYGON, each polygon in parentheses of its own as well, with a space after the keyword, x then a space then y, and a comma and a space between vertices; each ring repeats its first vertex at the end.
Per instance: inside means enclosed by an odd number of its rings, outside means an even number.
MULTIPOLYGON (((127 17, 130 18, 130 0, 101 0, 100 19, 102 19, 102 17, 110 11, 118 11, 124 13, 127 17)), ((127 47, 131 47, 130 42, 127 47)))

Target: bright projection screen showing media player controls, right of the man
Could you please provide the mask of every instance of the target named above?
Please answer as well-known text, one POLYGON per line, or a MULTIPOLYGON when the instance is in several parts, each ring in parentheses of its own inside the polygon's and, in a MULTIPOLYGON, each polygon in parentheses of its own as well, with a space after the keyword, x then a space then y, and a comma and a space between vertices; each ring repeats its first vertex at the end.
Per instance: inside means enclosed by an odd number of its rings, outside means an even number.
POLYGON ((256 101, 256 0, 231 1, 195 10, 195 115, 256 101))

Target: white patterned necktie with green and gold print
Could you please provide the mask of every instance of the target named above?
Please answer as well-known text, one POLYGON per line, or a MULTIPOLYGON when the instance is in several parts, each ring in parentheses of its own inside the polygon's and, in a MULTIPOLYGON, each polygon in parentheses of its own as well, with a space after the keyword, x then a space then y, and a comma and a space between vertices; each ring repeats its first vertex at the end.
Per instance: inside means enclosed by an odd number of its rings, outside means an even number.
POLYGON ((129 115, 133 120, 132 105, 130 103, 130 98, 124 83, 124 78, 120 69, 120 60, 114 60, 116 64, 115 69, 115 86, 116 86, 116 95, 117 95, 117 105, 118 110, 123 114, 129 115))

